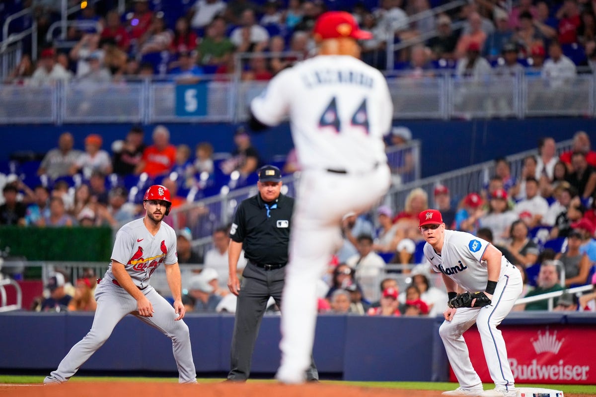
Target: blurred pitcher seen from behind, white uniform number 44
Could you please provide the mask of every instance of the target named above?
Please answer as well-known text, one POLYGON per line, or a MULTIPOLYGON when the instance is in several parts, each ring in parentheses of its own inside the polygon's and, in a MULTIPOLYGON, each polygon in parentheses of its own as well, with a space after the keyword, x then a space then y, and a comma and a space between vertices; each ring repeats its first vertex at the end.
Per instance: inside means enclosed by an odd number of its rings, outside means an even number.
POLYGON ((289 115, 302 174, 282 295, 277 379, 302 383, 311 364, 316 280, 342 242, 347 212, 368 210, 387 192, 390 171, 383 135, 393 102, 387 82, 361 60, 357 40, 371 39, 348 12, 325 12, 315 23, 319 54, 275 76, 251 103, 253 130, 289 115))

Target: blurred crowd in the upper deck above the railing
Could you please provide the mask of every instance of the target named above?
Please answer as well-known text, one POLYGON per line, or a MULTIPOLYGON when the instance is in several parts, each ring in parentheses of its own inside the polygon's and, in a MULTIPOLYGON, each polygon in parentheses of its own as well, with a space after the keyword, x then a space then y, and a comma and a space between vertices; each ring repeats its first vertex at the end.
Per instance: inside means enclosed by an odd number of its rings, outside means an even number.
POLYGON ((5 15, 28 4, 35 8, 32 18, 10 25, 18 33, 35 19, 38 27, 39 59, 34 62, 26 52, 7 80, 21 84, 166 75, 189 83, 213 74, 225 80, 236 71, 234 54, 247 55, 243 80, 269 80, 313 54, 314 21, 336 8, 352 12, 374 33, 362 52, 374 67, 388 68, 387 43, 408 43, 389 69, 405 70, 412 78, 433 76, 439 69, 474 78, 525 69, 561 81, 575 76, 577 67, 596 73, 596 5, 581 0, 521 0, 511 8, 507 2, 474 0, 436 15, 432 8, 446 2, 134 0, 119 14, 116 1, 103 0, 83 2, 86 7, 70 15, 64 39, 56 31, 48 37, 51 24, 60 19, 60 1, 5 3, 0 9, 5 15))

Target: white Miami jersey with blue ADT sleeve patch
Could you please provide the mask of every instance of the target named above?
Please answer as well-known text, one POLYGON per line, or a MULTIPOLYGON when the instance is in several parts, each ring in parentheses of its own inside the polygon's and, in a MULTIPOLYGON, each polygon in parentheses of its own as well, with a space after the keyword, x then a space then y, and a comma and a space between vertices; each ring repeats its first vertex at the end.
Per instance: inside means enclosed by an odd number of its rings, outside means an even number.
MULTIPOLYGON (((458 285, 470 292, 486 289, 488 268, 486 261, 482 260, 489 242, 470 233, 445 230, 443 249, 441 254, 434 252, 433 247, 424 244, 424 256, 432 264, 436 273, 443 273, 451 277, 458 285)), ((501 259, 501 274, 510 274, 518 271, 505 257, 501 259)), ((498 281, 498 280, 494 280, 498 281)))

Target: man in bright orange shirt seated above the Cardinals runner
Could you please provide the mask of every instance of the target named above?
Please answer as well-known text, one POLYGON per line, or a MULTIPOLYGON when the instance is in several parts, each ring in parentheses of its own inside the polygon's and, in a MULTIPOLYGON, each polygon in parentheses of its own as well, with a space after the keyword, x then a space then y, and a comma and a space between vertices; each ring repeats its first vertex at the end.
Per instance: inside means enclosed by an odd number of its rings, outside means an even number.
POLYGON ((147 173, 154 178, 169 173, 175 162, 176 146, 170 144, 170 132, 164 126, 157 126, 153 130, 153 145, 143 152, 135 174, 147 173))

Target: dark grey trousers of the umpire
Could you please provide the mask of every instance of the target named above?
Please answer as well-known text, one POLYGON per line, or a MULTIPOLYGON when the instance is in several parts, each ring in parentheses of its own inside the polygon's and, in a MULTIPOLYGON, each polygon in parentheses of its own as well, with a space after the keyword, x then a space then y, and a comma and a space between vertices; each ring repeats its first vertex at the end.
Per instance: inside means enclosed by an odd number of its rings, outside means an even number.
MULTIPOLYGON (((242 382, 250 376, 250 365, 257 335, 269 296, 281 307, 284 289, 285 267, 265 270, 250 261, 242 273, 240 294, 236 305, 234 334, 230 351, 229 380, 242 382)), ((291 314, 290 314, 291 315, 291 314)), ((318 380, 315 361, 311 355, 311 367, 306 370, 306 380, 318 380)))

